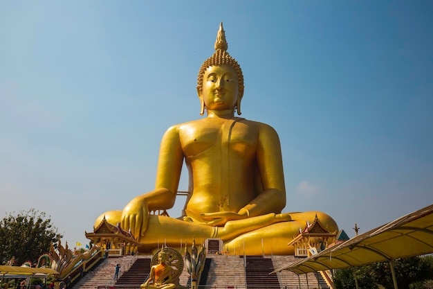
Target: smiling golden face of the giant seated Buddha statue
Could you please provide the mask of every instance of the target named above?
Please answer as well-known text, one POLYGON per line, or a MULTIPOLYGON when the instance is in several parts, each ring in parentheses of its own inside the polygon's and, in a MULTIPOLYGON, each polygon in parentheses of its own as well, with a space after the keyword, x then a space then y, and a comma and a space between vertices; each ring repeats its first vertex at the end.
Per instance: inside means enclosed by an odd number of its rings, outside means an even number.
POLYGON ((233 109, 239 97, 236 71, 230 65, 208 67, 198 93, 208 110, 233 109))

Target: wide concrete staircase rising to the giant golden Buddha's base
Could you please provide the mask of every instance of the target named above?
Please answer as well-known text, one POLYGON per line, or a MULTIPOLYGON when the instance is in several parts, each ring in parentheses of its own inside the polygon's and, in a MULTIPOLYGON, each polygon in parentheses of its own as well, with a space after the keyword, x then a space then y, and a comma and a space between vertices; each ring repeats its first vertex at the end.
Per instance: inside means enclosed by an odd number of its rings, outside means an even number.
MULTIPOLYGON (((257 270, 254 268, 255 265, 244 263, 243 256, 224 256, 224 255, 214 255, 209 254, 207 256, 208 263, 208 274, 203 274, 202 279, 200 281, 200 289, 205 288, 216 288, 216 289, 225 289, 225 288, 237 288, 243 289, 247 287, 247 279, 246 279, 246 267, 253 266, 252 268, 248 268, 247 273, 250 274, 250 277, 257 277, 256 283, 248 282, 248 288, 287 288, 287 289, 306 289, 306 275, 300 275, 298 279, 298 275, 291 271, 282 271, 276 274, 273 274, 273 278, 279 281, 278 283, 274 283, 274 281, 269 281, 266 278, 268 277, 268 273, 272 272, 275 269, 282 268, 286 265, 289 265, 299 259, 294 256, 264 256, 254 257, 254 259, 258 259, 261 261, 260 267, 266 268, 266 272, 264 271, 254 271, 257 270), (270 263, 272 261, 272 263, 270 263), (265 262, 268 262, 265 265, 265 262), (266 277, 265 277, 266 276, 266 277), (261 280, 259 280, 261 279, 261 280)), ((250 257, 248 257, 250 259, 250 257)), ((80 281, 74 284, 73 289, 102 289, 102 288, 117 288, 117 289, 139 289, 140 284, 143 283, 149 274, 150 270, 150 260, 151 256, 124 256, 119 258, 109 258, 104 261, 95 268, 95 270, 88 272, 80 281), (147 261, 146 261, 147 260, 147 261), (144 262, 149 262, 144 264, 144 262), (120 263, 120 274, 117 283, 114 283, 113 277, 115 272, 116 264, 120 263), (133 264, 137 263, 137 268, 134 268, 133 264), (140 265, 138 265, 140 264, 140 265), (131 272, 128 272, 131 270, 131 272), (130 277, 128 277, 130 276, 130 277), (129 281, 127 281, 129 280, 129 281), (131 281, 133 280, 133 281, 131 281)), ((320 275, 320 274, 319 274, 320 275)), ((272 276, 272 275, 271 275, 272 276)), ((181 274, 179 283, 182 286, 189 286, 188 283, 189 274, 186 268, 183 268, 183 272, 181 274)), ((322 277, 320 276, 320 279, 322 277)), ((309 288, 328 288, 326 283, 322 283, 322 281, 317 281, 317 277, 313 273, 308 274, 308 286, 309 288)))

